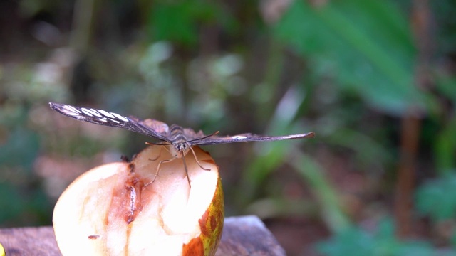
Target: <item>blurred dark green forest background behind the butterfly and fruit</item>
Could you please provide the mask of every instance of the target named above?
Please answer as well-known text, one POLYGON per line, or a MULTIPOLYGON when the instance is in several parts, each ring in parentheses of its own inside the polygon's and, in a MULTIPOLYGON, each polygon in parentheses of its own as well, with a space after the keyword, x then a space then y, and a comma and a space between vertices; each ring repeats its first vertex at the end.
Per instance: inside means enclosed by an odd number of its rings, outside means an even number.
POLYGON ((0 227, 51 225, 76 176, 150 138, 48 102, 206 134, 226 213, 289 255, 456 254, 456 2, 0 1, 0 227))

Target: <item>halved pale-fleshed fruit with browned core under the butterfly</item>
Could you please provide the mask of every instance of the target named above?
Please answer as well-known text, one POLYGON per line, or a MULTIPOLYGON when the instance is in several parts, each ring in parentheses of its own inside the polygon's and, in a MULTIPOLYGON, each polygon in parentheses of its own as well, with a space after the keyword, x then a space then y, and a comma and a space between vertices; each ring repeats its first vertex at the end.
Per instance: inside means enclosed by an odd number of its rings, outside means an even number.
POLYGON ((63 255, 214 255, 224 203, 218 166, 195 146, 196 157, 171 159, 149 146, 130 163, 95 167, 63 192, 53 228, 63 255), (151 181, 153 181, 151 183, 151 181))

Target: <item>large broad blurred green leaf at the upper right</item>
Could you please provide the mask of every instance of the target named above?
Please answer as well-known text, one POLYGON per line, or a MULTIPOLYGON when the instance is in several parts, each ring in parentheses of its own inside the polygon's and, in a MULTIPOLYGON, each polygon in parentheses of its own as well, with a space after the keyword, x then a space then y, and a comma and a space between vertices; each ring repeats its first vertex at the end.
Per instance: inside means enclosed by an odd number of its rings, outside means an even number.
POLYGON ((371 107, 403 114, 434 104, 415 87, 408 21, 390 1, 330 1, 321 7, 294 1, 274 35, 371 107))

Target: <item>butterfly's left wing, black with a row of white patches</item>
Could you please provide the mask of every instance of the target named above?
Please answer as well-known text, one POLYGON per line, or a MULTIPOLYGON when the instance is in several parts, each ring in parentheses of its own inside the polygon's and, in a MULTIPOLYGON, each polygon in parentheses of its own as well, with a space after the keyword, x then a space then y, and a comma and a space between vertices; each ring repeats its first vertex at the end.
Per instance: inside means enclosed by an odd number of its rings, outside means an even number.
POLYGON ((74 107, 59 103, 49 103, 49 106, 57 112, 73 119, 90 122, 93 124, 105 125, 108 127, 118 127, 138 132, 146 136, 154 137, 165 142, 170 142, 166 135, 168 126, 164 122, 146 119, 144 121, 136 117, 124 117, 123 115, 105 110, 95 110, 87 107, 74 107))

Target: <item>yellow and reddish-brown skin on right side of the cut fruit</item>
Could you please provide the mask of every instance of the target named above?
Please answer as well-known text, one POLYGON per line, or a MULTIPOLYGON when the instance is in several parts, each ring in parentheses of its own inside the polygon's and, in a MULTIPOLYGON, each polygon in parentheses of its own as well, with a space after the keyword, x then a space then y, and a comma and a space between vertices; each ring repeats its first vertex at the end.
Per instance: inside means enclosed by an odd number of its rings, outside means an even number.
POLYGON ((193 238, 187 245, 182 247, 182 255, 215 255, 220 239, 222 238, 223 223, 224 198, 222 180, 219 178, 212 203, 199 220, 201 235, 198 238, 193 238))

